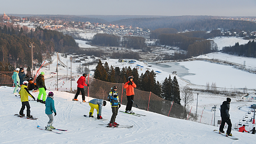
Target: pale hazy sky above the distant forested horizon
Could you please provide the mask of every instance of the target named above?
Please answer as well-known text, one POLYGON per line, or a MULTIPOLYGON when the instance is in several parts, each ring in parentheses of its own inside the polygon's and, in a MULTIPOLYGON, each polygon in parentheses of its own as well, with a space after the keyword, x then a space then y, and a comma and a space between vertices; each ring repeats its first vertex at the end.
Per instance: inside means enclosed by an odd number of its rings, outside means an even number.
POLYGON ((256 16, 256 0, 0 0, 0 14, 256 16))

